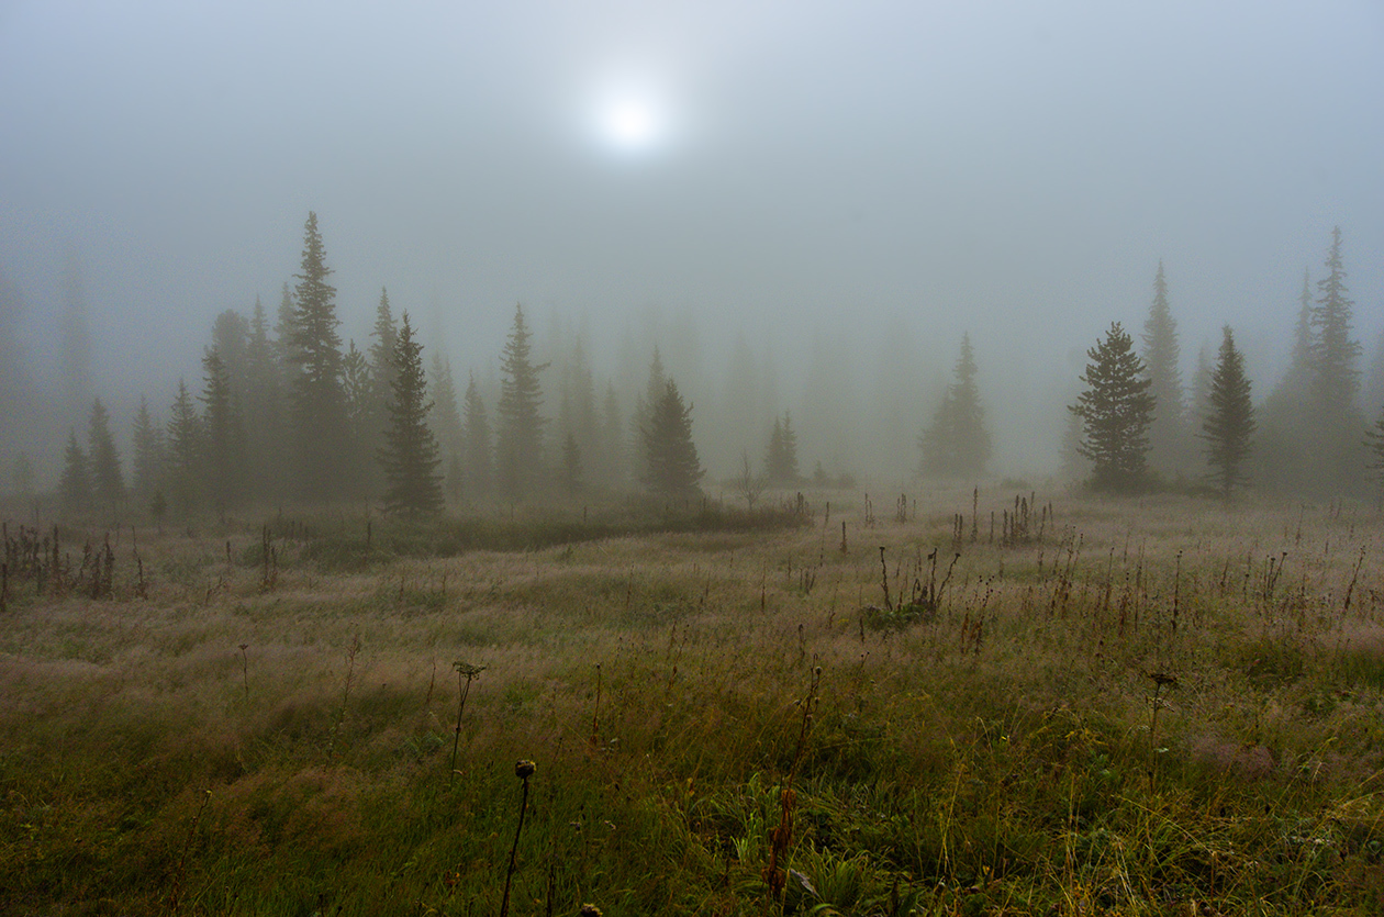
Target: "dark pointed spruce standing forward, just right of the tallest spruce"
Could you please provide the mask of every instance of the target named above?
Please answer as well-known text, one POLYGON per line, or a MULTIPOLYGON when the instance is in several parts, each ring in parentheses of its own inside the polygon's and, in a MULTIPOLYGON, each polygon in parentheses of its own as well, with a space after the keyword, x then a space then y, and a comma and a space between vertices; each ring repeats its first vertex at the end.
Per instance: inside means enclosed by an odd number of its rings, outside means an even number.
POLYGON ((437 466, 437 440, 428 427, 428 380, 424 376, 422 344, 404 311, 403 325, 394 340, 393 397, 389 401, 389 429, 379 462, 389 487, 385 512, 435 515, 443 509, 441 477, 437 466))

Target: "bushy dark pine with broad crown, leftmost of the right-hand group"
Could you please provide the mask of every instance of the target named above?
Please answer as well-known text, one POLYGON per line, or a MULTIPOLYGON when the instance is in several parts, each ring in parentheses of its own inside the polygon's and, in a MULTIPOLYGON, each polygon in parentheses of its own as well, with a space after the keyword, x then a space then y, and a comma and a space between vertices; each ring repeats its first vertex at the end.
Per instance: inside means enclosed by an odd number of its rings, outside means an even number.
POLYGON ((1133 491, 1147 479, 1149 425, 1157 404, 1143 361, 1120 322, 1086 351, 1086 389, 1068 409, 1081 418, 1077 451, 1091 461, 1092 487, 1133 491))

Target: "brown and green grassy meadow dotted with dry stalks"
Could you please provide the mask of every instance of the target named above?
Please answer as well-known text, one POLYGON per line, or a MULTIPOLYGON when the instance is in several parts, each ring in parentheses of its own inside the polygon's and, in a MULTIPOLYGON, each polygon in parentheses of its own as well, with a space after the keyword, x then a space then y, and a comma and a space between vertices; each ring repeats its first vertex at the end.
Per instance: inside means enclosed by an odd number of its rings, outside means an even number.
POLYGON ((1384 519, 891 503, 11 519, 0 913, 1384 913, 1384 519))

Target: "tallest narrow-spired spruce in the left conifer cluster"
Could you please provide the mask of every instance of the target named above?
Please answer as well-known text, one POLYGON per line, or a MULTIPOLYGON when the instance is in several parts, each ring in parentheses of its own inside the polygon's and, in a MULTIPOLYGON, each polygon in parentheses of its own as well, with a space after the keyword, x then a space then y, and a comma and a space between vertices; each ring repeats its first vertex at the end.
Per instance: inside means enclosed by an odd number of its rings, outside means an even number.
POLYGON ((300 494, 310 501, 339 495, 349 477, 350 436, 342 390, 342 339, 336 332, 336 288, 328 284, 327 250, 317 214, 303 228, 302 272, 293 288, 289 354, 293 376, 293 429, 300 494), (346 459, 346 461, 343 461, 346 459))

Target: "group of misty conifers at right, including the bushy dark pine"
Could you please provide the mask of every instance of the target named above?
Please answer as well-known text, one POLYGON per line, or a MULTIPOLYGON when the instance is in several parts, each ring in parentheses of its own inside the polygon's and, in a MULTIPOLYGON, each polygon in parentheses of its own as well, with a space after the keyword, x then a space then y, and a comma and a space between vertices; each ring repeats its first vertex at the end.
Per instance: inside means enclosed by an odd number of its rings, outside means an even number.
MULTIPOLYGON (((1111 325, 1088 351, 1084 389, 1070 405, 1073 450, 1088 462, 1091 484, 1136 491, 1201 483, 1225 497, 1253 484, 1338 498, 1367 492, 1373 473, 1384 492, 1377 438, 1384 430, 1384 402, 1372 405, 1380 420, 1367 429, 1354 306, 1337 227, 1315 290, 1304 274, 1290 365, 1262 404, 1254 402, 1244 355, 1229 325, 1222 329, 1215 364, 1203 355, 1189 404, 1160 261, 1142 354, 1118 322, 1111 325)), ((1384 360, 1376 362, 1384 369, 1384 360)), ((1384 398, 1381 383, 1373 383, 1376 400, 1384 398)))

